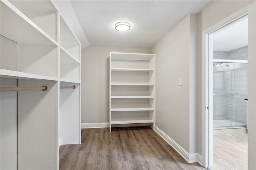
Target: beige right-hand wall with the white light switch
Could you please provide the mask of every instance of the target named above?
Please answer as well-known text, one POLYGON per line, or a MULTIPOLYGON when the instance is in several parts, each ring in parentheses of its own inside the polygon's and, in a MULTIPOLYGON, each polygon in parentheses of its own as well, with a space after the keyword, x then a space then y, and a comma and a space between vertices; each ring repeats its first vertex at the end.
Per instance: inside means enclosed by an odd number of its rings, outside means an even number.
POLYGON ((151 48, 156 54, 155 125, 188 153, 196 152, 196 22, 196 15, 186 16, 151 48))

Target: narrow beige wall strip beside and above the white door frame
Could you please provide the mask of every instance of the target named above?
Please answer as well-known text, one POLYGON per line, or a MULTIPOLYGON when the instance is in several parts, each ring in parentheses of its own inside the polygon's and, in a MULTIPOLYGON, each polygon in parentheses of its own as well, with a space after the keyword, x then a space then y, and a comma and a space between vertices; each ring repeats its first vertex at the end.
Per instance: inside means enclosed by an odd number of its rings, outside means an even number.
POLYGON ((198 14, 198 58, 197 58, 197 148, 198 153, 202 153, 204 147, 202 141, 202 122, 203 114, 205 114, 205 58, 202 57, 202 32, 221 22, 228 16, 234 14, 238 10, 248 6, 254 1, 214 1, 198 14))

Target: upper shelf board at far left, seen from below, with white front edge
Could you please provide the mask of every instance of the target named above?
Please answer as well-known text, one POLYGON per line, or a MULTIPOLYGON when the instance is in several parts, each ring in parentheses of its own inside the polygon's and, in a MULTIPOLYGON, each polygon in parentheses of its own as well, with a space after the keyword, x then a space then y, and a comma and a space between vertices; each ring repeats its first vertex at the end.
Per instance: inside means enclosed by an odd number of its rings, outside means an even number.
POLYGON ((8 1, 1 1, 1 35, 22 44, 56 45, 56 41, 8 1))

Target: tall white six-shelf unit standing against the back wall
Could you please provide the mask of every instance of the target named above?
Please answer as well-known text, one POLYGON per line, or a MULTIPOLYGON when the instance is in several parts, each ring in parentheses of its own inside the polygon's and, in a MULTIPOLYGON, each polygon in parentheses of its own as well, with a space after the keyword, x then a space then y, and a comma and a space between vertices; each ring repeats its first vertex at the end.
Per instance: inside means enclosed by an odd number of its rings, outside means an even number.
POLYGON ((155 55, 110 52, 110 132, 112 125, 154 127, 155 55))

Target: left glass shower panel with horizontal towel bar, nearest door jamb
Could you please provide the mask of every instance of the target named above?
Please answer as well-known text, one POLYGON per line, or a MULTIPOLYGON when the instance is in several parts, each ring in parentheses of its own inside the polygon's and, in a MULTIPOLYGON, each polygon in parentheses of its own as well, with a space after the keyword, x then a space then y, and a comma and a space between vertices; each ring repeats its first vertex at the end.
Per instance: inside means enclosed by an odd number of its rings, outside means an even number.
POLYGON ((213 125, 229 127, 230 123, 230 63, 213 65, 213 125))

